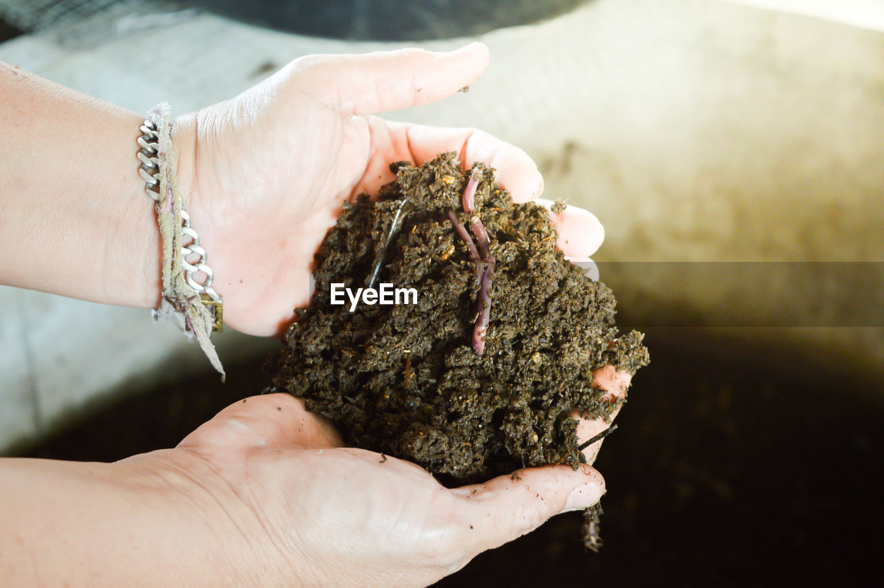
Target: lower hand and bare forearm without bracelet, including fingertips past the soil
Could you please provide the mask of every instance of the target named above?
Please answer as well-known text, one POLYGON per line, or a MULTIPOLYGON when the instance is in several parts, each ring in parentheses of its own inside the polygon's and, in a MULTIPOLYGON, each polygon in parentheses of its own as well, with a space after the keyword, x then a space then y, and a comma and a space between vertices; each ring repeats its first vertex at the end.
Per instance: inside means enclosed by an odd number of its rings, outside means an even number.
MULTIPOLYGON (((613 370, 596 380, 625 393, 613 370)), ((116 463, 0 459, 0 576, 9 585, 430 584, 605 491, 589 465, 517 473, 448 490, 413 463, 340 447, 288 394, 255 396, 175 449, 116 463)))

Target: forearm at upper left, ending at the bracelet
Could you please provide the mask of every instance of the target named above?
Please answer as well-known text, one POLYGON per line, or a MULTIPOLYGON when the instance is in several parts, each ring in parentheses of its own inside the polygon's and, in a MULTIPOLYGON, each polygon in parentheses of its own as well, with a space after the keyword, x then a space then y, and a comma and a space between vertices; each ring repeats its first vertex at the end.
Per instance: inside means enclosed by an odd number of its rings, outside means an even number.
POLYGON ((0 62, 0 283, 155 307, 160 238, 143 117, 0 62))

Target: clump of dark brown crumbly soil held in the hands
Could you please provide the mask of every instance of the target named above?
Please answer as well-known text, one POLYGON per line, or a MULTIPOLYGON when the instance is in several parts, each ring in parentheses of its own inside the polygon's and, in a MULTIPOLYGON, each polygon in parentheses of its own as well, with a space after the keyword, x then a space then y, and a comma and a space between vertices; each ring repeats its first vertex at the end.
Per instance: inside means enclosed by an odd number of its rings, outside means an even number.
POLYGON ((648 362, 643 335, 618 337, 611 290, 555 247, 547 210, 514 204, 484 164, 464 173, 449 153, 391 169, 397 179, 377 201, 347 204, 316 254, 316 292, 271 362, 275 388, 331 419, 348 445, 453 483, 582 462, 569 415, 618 408, 592 388, 592 370, 634 373, 648 362), (470 174, 481 178, 472 215, 461 200, 470 174), (483 259, 495 260, 482 355, 474 338, 488 263, 476 263, 451 212, 464 227, 481 219, 483 259), (416 304, 331 304, 332 283, 355 292, 378 259, 377 283, 414 287, 416 304))

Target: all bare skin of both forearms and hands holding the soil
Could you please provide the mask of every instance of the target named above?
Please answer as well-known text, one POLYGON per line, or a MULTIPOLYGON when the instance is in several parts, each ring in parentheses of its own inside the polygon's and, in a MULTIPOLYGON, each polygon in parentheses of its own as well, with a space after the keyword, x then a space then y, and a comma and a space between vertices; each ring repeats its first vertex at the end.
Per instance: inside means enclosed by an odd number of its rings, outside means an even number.
MULTIPOLYGON (((520 202, 543 190, 521 149, 475 129, 389 122, 488 65, 472 44, 310 56, 255 88, 178 118, 186 209, 215 271, 225 322, 278 335, 308 302, 309 261, 343 202, 392 179, 387 165, 455 150, 484 161, 520 202)), ((0 279, 153 308, 160 242, 135 163, 142 117, 0 64, 0 279)), ((585 210, 553 215, 560 247, 591 255, 585 210)), ((625 394, 629 378, 596 374, 625 394)), ((581 424, 582 438, 606 427, 581 424)), ((600 442, 587 448, 594 459, 600 442)), ((522 470, 446 489, 412 463, 341 447, 289 395, 223 410, 179 447, 115 463, 0 460, 5 585, 421 585, 473 556, 589 507, 589 465, 522 470)))

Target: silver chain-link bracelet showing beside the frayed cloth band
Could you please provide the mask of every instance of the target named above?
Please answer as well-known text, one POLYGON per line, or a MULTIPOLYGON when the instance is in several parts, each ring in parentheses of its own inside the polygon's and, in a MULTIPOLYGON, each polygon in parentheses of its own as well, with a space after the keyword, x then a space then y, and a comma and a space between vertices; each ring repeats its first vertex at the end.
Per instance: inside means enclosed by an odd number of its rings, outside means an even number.
MULTIPOLYGON (((138 145, 141 150, 138 152, 138 159, 141 161, 141 167, 138 173, 145 181, 144 192, 154 200, 160 202, 160 171, 159 171, 159 131, 151 120, 145 120, 141 125, 141 137, 138 138, 138 145)), ((184 272, 187 285, 192 287, 195 292, 200 294, 202 303, 210 308, 212 313, 212 331, 221 331, 224 325, 223 305, 221 296, 217 294, 212 282, 215 281, 215 274, 206 263, 206 250, 200 245, 200 236, 196 233, 194 227, 190 225, 190 215, 185 210, 181 210, 181 269, 184 272), (185 243, 183 240, 189 238, 185 243), (193 263, 187 261, 187 256, 197 256, 193 263), (202 271, 206 278, 202 284, 194 279, 194 274, 202 271)), ((186 329, 185 330, 189 330, 186 329)))

